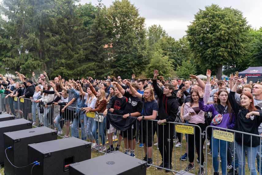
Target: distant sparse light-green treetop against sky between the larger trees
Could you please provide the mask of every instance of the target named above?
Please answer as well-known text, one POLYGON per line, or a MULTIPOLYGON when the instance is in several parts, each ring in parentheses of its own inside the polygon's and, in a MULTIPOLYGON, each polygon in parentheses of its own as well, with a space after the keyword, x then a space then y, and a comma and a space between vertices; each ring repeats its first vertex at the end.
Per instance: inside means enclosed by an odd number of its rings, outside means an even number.
POLYGON ((165 29, 163 29, 161 25, 156 25, 156 24, 148 27, 147 35, 148 35, 148 41, 150 46, 152 46, 155 42, 158 42, 160 38, 168 36, 165 29))

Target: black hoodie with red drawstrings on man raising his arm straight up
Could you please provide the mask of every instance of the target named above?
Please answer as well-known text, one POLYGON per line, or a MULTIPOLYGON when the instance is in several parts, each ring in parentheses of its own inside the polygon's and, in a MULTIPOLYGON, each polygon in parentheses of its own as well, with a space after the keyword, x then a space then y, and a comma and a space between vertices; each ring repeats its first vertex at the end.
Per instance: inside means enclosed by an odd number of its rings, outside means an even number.
POLYGON ((157 84, 157 80, 153 80, 153 87, 159 98, 157 120, 166 119, 166 122, 174 122, 177 117, 179 107, 176 96, 174 94, 170 96, 164 95, 163 90, 157 84))

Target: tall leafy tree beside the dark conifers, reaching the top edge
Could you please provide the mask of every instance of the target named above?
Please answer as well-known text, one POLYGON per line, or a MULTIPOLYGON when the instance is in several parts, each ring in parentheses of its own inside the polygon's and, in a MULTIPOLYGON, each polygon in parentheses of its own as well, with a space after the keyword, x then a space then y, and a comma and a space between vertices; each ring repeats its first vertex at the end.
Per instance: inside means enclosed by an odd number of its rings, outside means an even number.
POLYGON ((112 68, 116 75, 141 74, 148 64, 145 18, 128 0, 116 0, 107 9, 112 38, 112 68))

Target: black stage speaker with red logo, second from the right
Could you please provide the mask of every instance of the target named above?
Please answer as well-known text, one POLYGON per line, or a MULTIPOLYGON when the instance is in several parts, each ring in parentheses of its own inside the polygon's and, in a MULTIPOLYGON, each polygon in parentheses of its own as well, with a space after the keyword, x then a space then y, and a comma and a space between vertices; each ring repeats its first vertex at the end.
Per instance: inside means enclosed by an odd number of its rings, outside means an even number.
POLYGON ((37 175, 69 174, 69 165, 91 159, 91 143, 79 138, 62 138, 58 140, 28 145, 28 164, 38 161, 40 165, 32 165, 28 173, 37 175))

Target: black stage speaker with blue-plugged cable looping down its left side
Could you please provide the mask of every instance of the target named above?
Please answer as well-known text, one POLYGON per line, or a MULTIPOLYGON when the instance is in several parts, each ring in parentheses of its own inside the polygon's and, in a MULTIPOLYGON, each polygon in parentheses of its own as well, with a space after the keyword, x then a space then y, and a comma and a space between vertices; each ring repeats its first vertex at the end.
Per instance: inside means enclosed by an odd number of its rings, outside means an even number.
MULTIPOLYGON (((4 148, 12 146, 11 149, 6 150, 6 155, 9 161, 17 166, 22 167, 27 164, 28 155, 28 144, 47 142, 57 139, 57 131, 52 130, 48 127, 42 126, 39 128, 13 131, 4 134, 4 148)), ((7 160, 5 155, 5 175, 21 174, 27 173, 27 168, 15 168, 7 160)), ((32 163, 32 162, 31 162, 32 163)), ((30 169, 31 170, 31 169, 30 169)))

